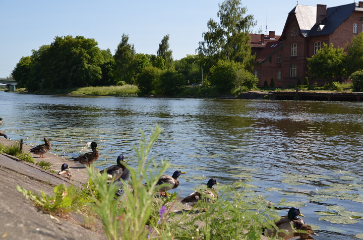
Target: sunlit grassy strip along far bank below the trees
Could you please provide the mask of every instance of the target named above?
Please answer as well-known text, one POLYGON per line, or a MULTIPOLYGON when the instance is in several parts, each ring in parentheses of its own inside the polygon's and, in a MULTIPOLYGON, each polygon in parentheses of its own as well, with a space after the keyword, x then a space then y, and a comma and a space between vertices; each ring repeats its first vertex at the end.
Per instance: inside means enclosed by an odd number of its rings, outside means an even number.
POLYGON ((124 86, 83 87, 72 91, 71 94, 137 97, 138 92, 137 86, 126 84, 124 86))

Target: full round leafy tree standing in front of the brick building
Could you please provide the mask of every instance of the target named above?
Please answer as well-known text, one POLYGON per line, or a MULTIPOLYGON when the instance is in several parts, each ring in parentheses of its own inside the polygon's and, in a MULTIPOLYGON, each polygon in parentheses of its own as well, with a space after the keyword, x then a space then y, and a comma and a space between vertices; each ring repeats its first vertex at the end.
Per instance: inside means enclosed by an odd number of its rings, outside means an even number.
POLYGON ((323 47, 308 58, 308 73, 325 79, 331 85, 334 78, 345 74, 344 59, 345 53, 342 47, 334 48, 333 43, 330 46, 323 43, 323 47))

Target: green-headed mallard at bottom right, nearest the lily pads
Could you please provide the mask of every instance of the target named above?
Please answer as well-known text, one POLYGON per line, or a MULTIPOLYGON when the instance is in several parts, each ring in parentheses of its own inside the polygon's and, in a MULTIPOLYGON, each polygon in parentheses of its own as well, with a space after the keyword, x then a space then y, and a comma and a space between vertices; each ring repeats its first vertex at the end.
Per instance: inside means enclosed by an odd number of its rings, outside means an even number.
MULTIPOLYGON (((283 230, 278 233, 279 237, 288 239, 299 235, 297 232, 294 232, 294 230, 300 229, 303 225, 305 225, 305 222, 298 216, 305 217, 300 213, 300 210, 297 207, 292 207, 289 209, 287 216, 282 216, 280 220, 275 222, 278 229, 283 230)), ((273 231, 265 229, 266 236, 273 236, 276 232, 276 229, 273 229, 273 231)))

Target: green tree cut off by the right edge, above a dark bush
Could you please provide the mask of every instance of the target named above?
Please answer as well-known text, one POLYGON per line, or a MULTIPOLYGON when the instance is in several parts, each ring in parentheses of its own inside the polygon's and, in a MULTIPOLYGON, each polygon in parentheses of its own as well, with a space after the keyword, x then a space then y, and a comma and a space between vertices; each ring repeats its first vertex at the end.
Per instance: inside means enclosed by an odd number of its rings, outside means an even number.
POLYGON ((346 47, 345 68, 347 75, 363 69, 363 33, 352 37, 346 47))

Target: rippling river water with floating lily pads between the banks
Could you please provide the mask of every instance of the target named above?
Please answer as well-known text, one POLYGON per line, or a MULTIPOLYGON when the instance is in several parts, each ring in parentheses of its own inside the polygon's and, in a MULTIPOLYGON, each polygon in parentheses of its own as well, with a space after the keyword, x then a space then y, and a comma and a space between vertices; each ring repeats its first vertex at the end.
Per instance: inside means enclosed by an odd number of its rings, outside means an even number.
MULTIPOLYGON (((23 95, 0 92, 3 130, 28 145, 78 156, 96 141, 99 168, 124 154, 136 163, 140 129, 163 129, 152 155, 187 171, 187 196, 214 177, 221 184, 252 177, 255 191, 299 206, 316 239, 363 233, 363 104, 361 102, 173 99, 23 95), (352 213, 355 212, 355 213, 352 213), (333 216, 338 222, 319 220, 333 216), (346 221, 351 221, 348 223, 346 221)), ((327 219, 329 220, 329 219, 327 219)))

